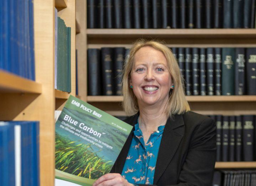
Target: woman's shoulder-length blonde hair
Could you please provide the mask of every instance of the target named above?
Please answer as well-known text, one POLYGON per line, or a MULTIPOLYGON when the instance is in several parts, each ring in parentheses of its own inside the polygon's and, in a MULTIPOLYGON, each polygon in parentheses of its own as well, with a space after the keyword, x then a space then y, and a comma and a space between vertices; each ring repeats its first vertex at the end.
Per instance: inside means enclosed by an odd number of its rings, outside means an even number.
POLYGON ((183 77, 181 76, 179 65, 171 50, 162 42, 139 39, 130 49, 128 60, 124 64, 122 91, 124 96, 123 108, 126 114, 134 115, 139 111, 137 98, 129 86, 129 78, 134 65, 134 56, 140 48, 145 46, 153 47, 154 49, 162 52, 167 59, 167 67, 174 84, 174 89, 169 94, 169 99, 165 110, 167 115, 171 117, 175 114, 182 114, 184 112, 190 111, 190 106, 184 93, 183 77))

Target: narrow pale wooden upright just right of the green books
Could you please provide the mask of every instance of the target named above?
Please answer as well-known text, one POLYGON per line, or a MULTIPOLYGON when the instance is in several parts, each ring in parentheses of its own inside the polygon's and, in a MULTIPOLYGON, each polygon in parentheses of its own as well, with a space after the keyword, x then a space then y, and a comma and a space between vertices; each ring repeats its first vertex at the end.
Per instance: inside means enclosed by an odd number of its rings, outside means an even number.
POLYGON ((67 1, 67 7, 58 11, 67 27, 71 27, 71 95, 76 95, 76 5, 75 1, 67 1))

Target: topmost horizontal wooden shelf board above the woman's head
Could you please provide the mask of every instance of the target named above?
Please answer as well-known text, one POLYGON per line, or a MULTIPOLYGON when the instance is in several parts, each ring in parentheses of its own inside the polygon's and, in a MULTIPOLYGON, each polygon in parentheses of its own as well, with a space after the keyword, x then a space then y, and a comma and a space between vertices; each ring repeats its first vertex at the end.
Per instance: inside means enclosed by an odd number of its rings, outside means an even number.
POLYGON ((87 29, 88 39, 137 38, 256 38, 256 29, 87 29))

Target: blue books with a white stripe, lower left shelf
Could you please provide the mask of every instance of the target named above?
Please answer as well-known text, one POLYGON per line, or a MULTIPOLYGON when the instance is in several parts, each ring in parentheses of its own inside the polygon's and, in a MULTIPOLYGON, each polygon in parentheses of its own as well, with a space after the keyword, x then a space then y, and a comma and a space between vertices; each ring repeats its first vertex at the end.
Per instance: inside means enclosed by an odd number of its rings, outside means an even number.
POLYGON ((0 185, 39 186, 39 122, 0 122, 0 185))

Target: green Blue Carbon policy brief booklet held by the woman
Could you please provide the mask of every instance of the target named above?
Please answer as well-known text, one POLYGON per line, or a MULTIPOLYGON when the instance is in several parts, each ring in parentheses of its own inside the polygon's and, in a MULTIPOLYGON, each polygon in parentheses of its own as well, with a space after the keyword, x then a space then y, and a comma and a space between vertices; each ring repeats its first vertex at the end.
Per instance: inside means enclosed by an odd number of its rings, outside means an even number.
POLYGON ((109 173, 132 128, 70 96, 55 123, 55 185, 91 186, 109 173))

